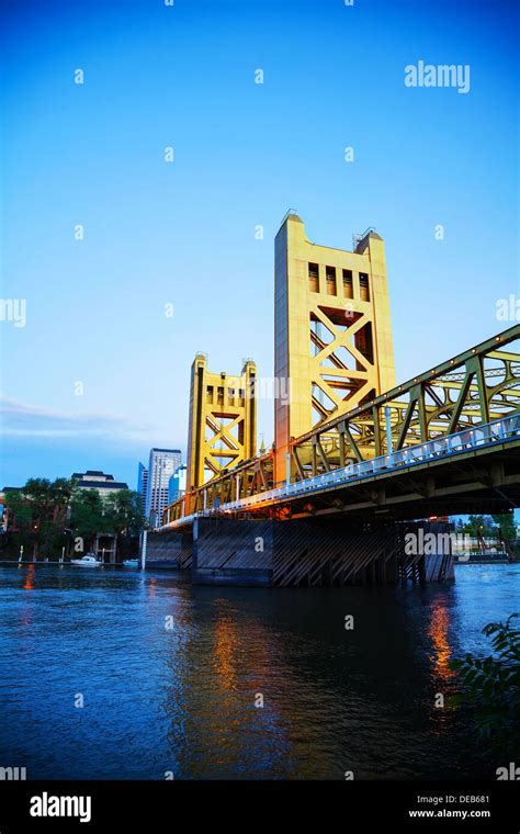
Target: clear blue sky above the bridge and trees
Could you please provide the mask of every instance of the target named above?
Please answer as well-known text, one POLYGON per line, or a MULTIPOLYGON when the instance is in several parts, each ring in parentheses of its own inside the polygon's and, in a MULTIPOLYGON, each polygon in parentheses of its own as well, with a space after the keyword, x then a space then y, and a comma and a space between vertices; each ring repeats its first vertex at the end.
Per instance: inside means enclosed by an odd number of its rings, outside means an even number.
POLYGON ((150 447, 185 449, 199 350, 272 376, 290 207, 314 243, 384 237, 399 381, 510 326, 515 5, 3 0, 2 296, 26 325, 0 322, 0 486, 101 469, 135 487, 150 447), (470 65, 470 91, 405 87, 419 59, 470 65))

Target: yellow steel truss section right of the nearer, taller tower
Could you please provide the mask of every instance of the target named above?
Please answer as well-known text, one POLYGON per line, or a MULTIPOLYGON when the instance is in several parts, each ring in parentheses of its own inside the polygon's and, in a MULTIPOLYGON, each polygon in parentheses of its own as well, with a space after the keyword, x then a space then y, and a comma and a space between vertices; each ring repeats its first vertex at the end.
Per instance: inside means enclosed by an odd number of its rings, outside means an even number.
POLYGON ((511 350, 513 342, 520 348, 519 340, 520 325, 515 325, 296 438, 292 441, 296 478, 343 467, 349 459, 366 460, 443 438, 519 410, 520 353, 511 350), (387 408, 392 449, 386 440, 387 408))

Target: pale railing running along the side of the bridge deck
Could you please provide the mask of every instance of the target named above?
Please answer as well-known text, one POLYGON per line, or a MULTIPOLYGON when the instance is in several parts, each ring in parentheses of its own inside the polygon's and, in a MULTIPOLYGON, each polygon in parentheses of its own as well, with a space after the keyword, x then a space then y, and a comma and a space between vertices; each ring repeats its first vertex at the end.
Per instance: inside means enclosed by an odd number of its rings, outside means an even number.
MULTIPOLYGON (((441 459, 474 451, 485 446, 504 442, 511 438, 520 437, 520 413, 510 417, 504 417, 482 426, 464 429, 453 435, 429 440, 408 449, 402 449, 389 454, 373 458, 372 460, 352 463, 342 469, 332 470, 323 475, 296 481, 295 483, 280 486, 258 495, 252 495, 240 500, 229 501, 222 507, 213 507, 201 512, 193 514, 183 522, 199 516, 212 516, 219 512, 234 510, 247 510, 265 504, 274 504, 290 498, 313 493, 335 485, 348 484, 352 481, 361 481, 374 475, 391 473, 393 471, 418 464, 440 461, 441 459)), ((179 522, 177 522, 179 523, 179 522)))

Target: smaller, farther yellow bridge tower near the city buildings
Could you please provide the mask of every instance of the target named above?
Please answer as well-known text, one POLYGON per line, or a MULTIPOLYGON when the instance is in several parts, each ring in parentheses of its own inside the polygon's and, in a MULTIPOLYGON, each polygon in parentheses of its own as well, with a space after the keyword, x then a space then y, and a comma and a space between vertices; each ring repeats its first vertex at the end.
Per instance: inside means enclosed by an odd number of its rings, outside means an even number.
POLYGON ((240 376, 207 370, 204 353, 191 367, 186 488, 257 453, 257 367, 248 359, 240 376))

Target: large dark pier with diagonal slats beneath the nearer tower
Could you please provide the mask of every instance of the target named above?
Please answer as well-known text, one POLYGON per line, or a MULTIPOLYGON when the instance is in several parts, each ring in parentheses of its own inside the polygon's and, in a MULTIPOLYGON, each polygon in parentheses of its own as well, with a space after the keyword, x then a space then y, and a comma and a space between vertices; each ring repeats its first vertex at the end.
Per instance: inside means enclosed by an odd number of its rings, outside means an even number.
POLYGON ((441 582, 453 578, 451 529, 427 521, 197 519, 192 579, 263 587, 441 582))

